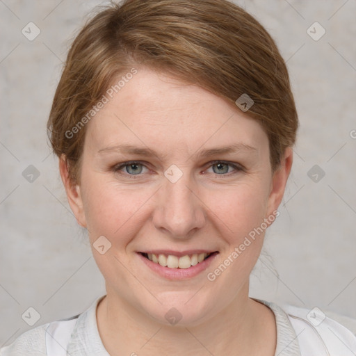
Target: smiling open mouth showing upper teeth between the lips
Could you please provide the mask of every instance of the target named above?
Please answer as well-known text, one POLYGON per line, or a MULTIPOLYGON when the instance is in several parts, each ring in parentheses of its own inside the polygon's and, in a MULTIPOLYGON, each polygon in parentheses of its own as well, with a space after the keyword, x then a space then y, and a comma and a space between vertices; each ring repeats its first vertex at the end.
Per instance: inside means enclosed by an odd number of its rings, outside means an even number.
POLYGON ((147 253, 138 252, 145 259, 165 268, 175 268, 175 269, 187 269, 193 266, 202 264, 204 261, 211 259, 213 256, 218 254, 218 251, 214 252, 200 252, 192 254, 163 254, 163 253, 147 253))

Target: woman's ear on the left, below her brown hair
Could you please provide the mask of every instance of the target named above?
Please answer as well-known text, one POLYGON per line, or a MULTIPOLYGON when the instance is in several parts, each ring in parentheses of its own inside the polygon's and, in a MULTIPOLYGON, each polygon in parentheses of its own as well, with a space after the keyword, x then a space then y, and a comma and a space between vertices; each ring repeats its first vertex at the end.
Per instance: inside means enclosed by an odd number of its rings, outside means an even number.
POLYGON ((81 188, 79 184, 74 184, 70 179, 67 161, 65 160, 65 154, 62 154, 59 159, 59 171, 62 178, 63 185, 65 187, 65 193, 67 194, 67 200, 70 204, 76 222, 82 227, 87 227, 86 216, 83 209, 83 201, 81 200, 81 188))

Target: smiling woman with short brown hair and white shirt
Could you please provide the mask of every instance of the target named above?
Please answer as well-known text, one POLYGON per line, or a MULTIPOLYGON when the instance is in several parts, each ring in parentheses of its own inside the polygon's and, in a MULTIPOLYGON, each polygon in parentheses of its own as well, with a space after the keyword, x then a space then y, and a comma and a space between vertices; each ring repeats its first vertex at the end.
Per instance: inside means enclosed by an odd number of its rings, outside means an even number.
POLYGON ((130 0, 86 24, 48 122, 106 295, 0 355, 355 355, 318 311, 249 298, 298 115, 282 56, 226 0, 130 0))

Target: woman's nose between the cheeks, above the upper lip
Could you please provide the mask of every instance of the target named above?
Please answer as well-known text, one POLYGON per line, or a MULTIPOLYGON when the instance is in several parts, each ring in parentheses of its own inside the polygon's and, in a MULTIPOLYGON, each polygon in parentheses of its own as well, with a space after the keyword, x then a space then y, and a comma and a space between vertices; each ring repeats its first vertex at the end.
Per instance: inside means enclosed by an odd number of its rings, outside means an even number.
POLYGON ((178 181, 165 179, 157 192, 153 223, 172 238, 188 239, 205 224, 204 202, 197 185, 184 174, 178 181))

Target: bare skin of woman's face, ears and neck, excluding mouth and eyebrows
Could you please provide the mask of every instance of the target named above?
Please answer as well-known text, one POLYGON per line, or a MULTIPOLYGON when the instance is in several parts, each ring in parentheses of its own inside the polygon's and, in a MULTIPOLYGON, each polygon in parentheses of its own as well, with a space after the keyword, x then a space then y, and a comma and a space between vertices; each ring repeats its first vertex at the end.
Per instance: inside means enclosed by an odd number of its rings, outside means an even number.
POLYGON ((264 233, 216 280, 207 279, 277 209, 291 170, 288 148, 272 175, 268 137, 246 114, 202 88, 141 67, 88 123, 79 184, 70 182, 60 159, 68 202, 91 245, 99 236, 111 242, 105 254, 92 247, 107 291, 97 308, 98 329, 111 355, 274 355, 273 312, 248 297, 264 233), (159 157, 98 153, 122 143, 149 147, 159 157), (254 149, 196 156, 236 143, 254 149), (211 163, 217 160, 243 170, 219 170, 211 163), (127 161, 143 165, 115 172, 113 166, 127 161), (164 175, 173 164, 183 173, 175 183, 164 175), (188 280, 156 275, 136 253, 198 248, 219 254, 188 280), (172 307, 182 316, 176 325, 165 319, 172 307))

